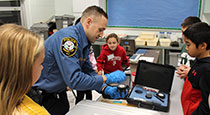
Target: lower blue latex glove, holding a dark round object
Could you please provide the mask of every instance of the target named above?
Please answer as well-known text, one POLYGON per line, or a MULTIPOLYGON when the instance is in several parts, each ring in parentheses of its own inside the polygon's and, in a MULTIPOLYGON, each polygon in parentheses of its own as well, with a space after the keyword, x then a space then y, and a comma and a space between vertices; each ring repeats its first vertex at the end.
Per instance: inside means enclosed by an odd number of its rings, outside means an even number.
POLYGON ((119 98, 125 98, 125 96, 128 94, 128 91, 126 92, 118 92, 117 87, 111 87, 107 86, 104 89, 104 94, 109 95, 112 99, 119 99, 119 98))

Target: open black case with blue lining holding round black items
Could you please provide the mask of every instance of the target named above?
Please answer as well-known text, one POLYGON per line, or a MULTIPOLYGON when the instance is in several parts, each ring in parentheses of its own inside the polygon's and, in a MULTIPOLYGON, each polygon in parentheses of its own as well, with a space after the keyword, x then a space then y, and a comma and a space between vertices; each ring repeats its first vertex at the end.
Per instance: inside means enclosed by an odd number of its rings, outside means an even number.
POLYGON ((175 67, 139 61, 134 87, 127 102, 138 107, 168 112, 175 67))

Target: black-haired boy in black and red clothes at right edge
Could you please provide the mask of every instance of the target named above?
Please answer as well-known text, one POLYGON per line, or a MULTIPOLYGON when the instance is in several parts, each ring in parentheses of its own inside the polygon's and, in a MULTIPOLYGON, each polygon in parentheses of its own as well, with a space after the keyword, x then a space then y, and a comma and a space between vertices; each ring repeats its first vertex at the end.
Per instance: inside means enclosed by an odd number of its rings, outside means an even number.
POLYGON ((183 32, 183 39, 186 43, 187 53, 196 58, 196 62, 186 77, 186 81, 189 83, 186 85, 185 82, 182 91, 181 101, 184 114, 210 115, 210 26, 203 22, 193 24, 183 32), (202 100, 196 110, 188 108, 190 106, 192 108, 192 104, 196 107, 197 105, 194 103, 197 103, 200 97, 198 92, 189 92, 188 88, 201 91, 202 100))

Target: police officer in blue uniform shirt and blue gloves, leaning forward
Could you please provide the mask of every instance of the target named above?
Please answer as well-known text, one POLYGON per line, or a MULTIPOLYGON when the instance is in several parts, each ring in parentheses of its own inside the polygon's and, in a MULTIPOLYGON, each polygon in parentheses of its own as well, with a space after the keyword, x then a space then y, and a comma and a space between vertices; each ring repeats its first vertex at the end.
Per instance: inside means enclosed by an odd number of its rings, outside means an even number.
MULTIPOLYGON (((44 43, 45 60, 40 79, 33 86, 39 104, 50 114, 63 115, 69 111, 66 87, 76 90, 97 90, 110 98, 124 98, 124 92, 108 83, 121 82, 125 79, 122 71, 97 75, 89 61, 89 48, 102 37, 107 26, 108 16, 97 6, 88 7, 75 25, 63 28, 44 43)), ((32 98, 35 94, 30 94, 32 98)), ((36 98, 37 99, 37 98, 36 98)))

